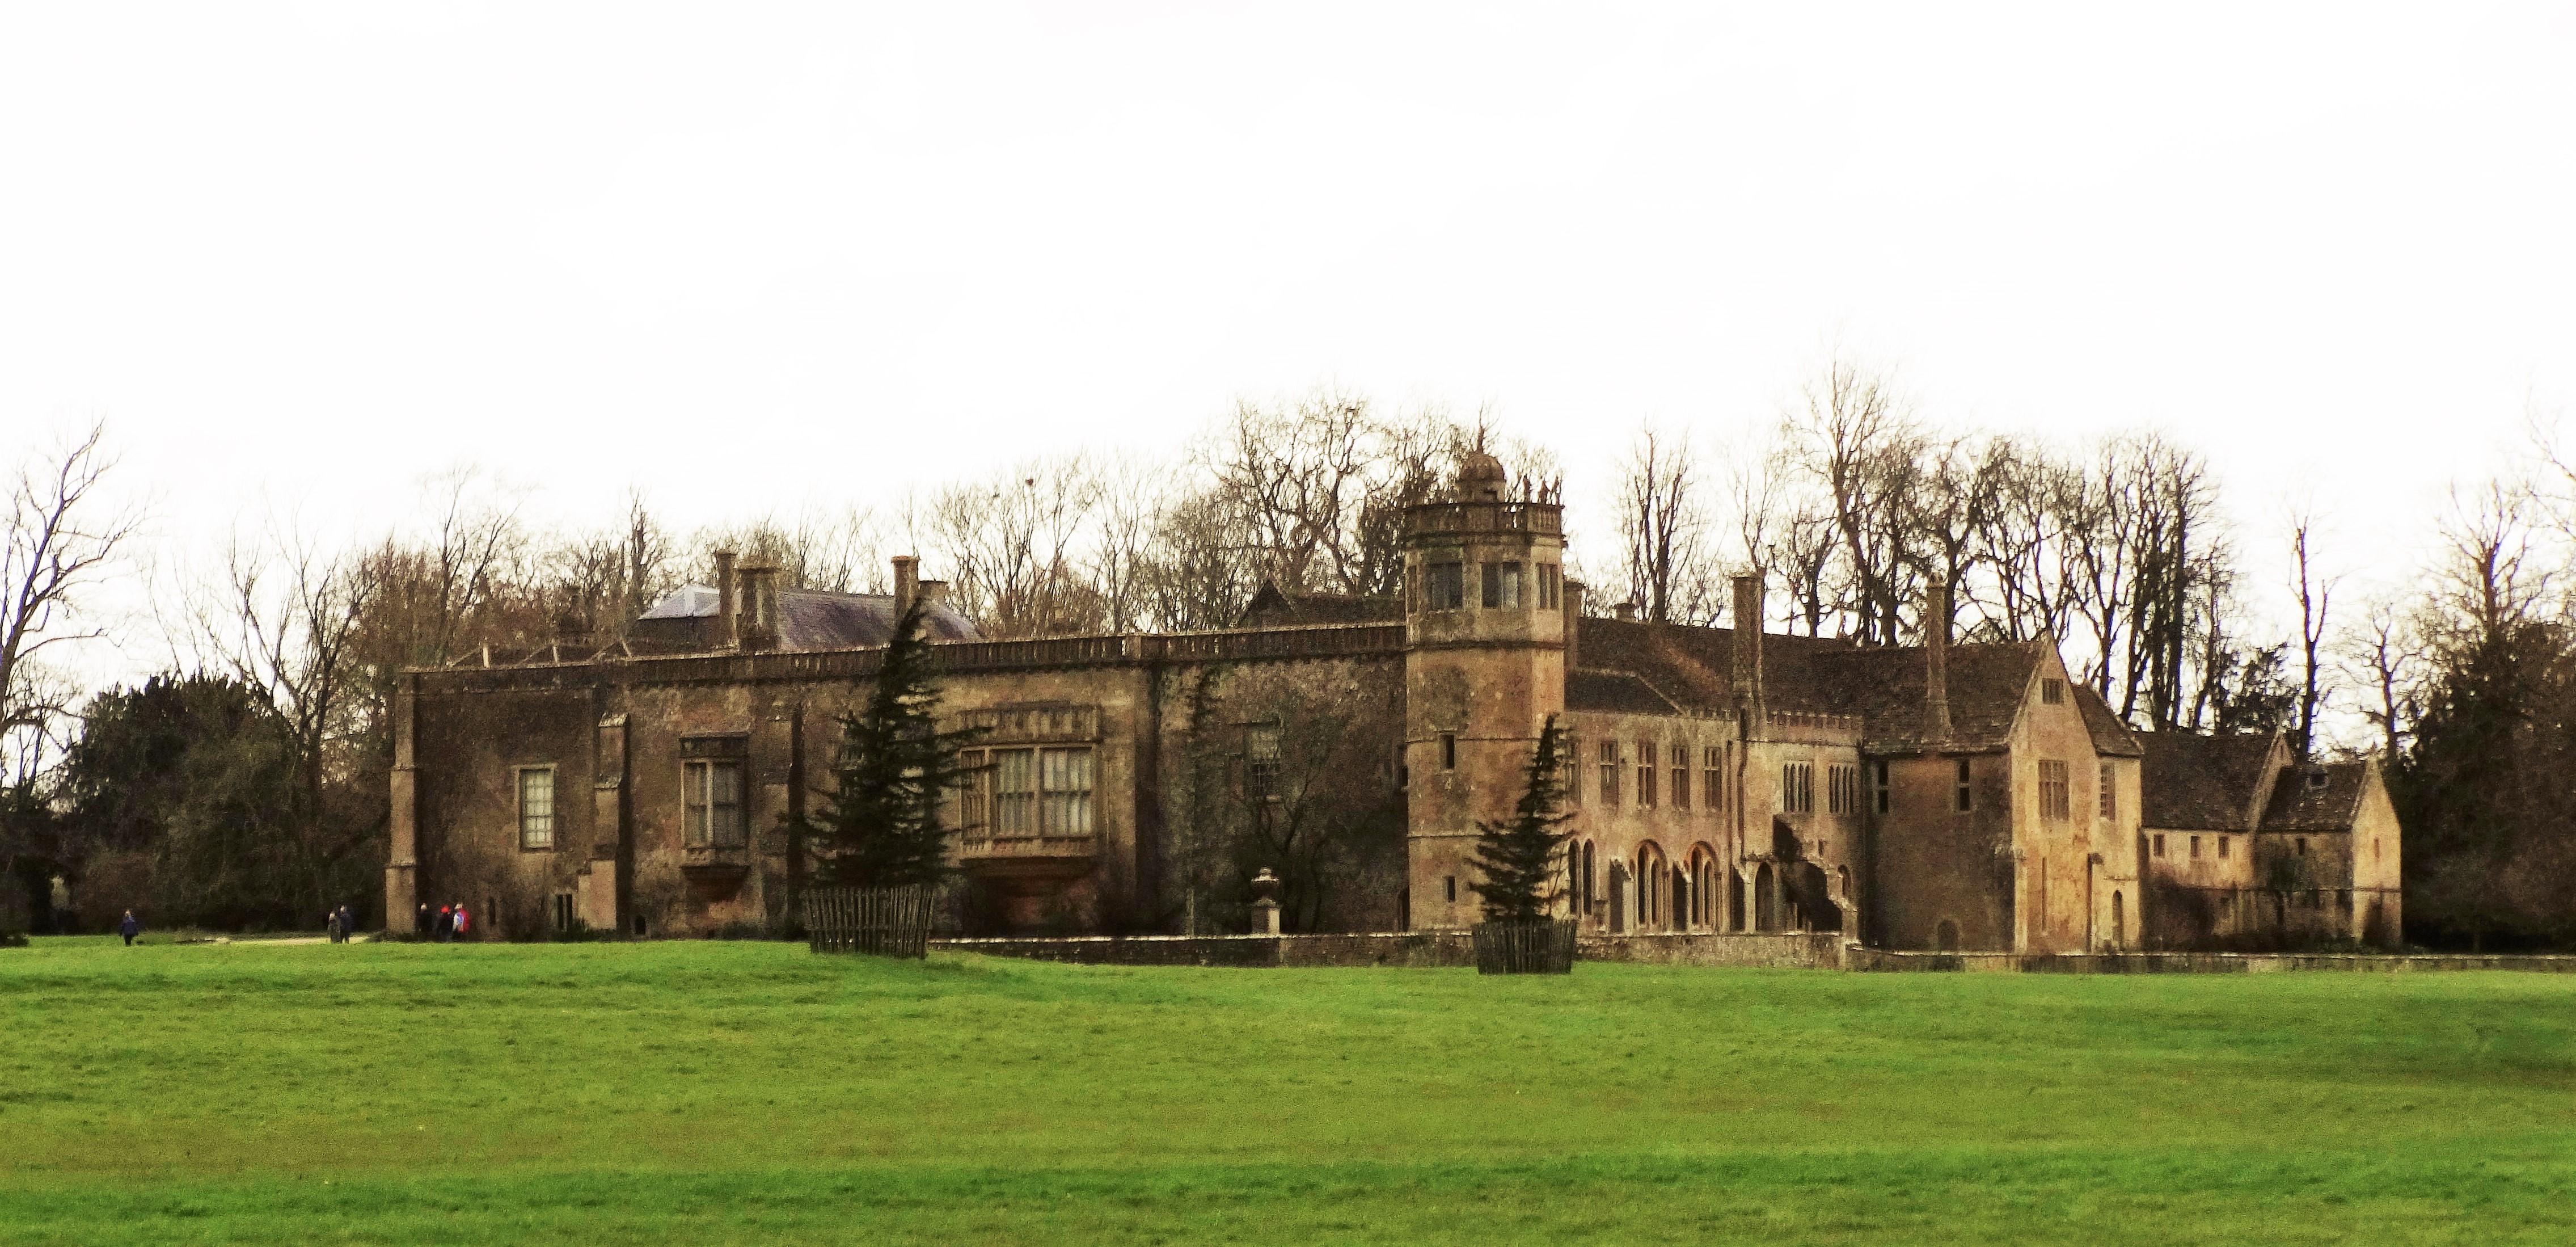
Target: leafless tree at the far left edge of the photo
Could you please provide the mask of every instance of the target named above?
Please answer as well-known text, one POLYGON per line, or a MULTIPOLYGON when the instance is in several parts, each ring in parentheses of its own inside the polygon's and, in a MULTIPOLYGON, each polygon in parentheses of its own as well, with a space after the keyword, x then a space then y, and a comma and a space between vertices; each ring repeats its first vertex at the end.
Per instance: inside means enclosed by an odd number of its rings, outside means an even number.
MULTIPOLYGON (((28 453, 10 479, 8 533, 0 546, 0 739, 44 737, 70 711, 70 685, 44 678, 44 654, 100 636, 85 626, 80 598, 95 587, 121 546, 142 526, 137 510, 100 497, 116 461, 106 453, 106 425, 90 425, 28 453)), ((23 742, 5 752, 10 781, 18 763, 41 757, 23 742)))

